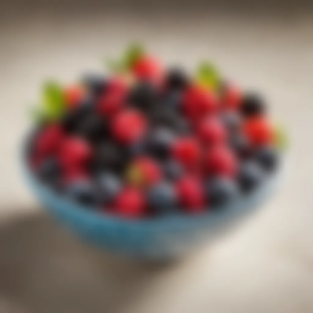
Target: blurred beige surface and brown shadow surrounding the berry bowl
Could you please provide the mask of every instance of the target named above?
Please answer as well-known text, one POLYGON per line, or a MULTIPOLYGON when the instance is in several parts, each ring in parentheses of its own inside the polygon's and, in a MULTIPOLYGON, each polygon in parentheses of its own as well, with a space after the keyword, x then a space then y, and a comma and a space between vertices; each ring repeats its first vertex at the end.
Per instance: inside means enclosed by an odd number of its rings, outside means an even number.
POLYGON ((0 312, 313 312, 311 1, 0 1, 0 312), (133 41, 201 59, 268 99, 291 141, 280 191, 171 264, 115 259, 60 228, 24 187, 18 149, 44 79, 71 82, 133 41))

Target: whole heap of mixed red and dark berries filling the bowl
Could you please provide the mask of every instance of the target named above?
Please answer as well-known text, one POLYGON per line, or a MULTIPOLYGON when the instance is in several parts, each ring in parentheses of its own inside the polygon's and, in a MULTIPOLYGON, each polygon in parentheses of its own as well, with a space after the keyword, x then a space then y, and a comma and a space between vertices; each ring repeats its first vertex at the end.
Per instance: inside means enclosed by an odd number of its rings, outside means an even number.
POLYGON ((86 208, 144 218, 221 208, 275 170, 259 95, 208 64, 191 77, 132 52, 118 74, 49 85, 28 154, 42 182, 86 208))

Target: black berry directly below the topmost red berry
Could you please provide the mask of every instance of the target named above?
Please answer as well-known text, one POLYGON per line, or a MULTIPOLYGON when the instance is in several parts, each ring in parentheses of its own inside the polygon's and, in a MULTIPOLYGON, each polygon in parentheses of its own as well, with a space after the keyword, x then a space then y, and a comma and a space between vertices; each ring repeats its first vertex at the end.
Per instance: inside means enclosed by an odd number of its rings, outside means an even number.
POLYGON ((135 108, 147 112, 154 107, 159 100, 155 88, 148 82, 138 83, 129 95, 129 102, 135 108))

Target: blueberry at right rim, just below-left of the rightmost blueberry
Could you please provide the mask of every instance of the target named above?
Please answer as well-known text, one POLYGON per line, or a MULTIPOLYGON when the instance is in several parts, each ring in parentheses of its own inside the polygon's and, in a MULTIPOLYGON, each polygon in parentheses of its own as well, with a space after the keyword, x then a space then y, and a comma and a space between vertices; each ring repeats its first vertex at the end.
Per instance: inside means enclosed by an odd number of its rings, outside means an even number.
POLYGON ((250 192, 258 187, 264 179, 264 172, 259 164, 249 160, 240 164, 238 183, 242 192, 250 192))

